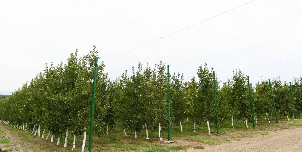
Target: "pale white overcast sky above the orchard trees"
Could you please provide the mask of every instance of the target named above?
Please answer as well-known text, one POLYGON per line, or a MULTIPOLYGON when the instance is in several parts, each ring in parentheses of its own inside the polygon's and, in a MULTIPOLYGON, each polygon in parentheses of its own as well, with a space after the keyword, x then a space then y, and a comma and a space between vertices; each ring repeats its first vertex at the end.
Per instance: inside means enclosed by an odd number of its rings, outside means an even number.
MULTIPOLYGON (((0 1, 0 94, 43 71, 66 63, 70 52, 96 45, 101 60, 159 39, 251 0, 211 1, 0 1)), ((301 0, 255 0, 220 16, 105 62, 111 79, 138 62, 175 65, 302 36, 301 0)), ((170 67, 196 74, 204 62, 226 81, 243 68, 252 83, 280 75, 292 81, 302 71, 302 37, 170 67), (226 70, 226 71, 221 71, 226 70)))

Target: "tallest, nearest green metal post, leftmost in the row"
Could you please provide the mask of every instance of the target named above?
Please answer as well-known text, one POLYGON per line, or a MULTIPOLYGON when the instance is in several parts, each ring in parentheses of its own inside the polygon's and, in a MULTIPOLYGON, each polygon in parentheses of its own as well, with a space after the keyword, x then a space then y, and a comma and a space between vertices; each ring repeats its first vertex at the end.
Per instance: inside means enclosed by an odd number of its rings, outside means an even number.
POLYGON ((92 90, 91 116, 90 116, 90 127, 89 127, 88 152, 91 152, 91 144, 92 144, 92 127, 93 127, 93 114, 94 114, 95 86, 96 86, 97 69, 98 69, 98 57, 95 57, 95 71, 94 71, 94 76, 93 76, 93 90, 92 90))

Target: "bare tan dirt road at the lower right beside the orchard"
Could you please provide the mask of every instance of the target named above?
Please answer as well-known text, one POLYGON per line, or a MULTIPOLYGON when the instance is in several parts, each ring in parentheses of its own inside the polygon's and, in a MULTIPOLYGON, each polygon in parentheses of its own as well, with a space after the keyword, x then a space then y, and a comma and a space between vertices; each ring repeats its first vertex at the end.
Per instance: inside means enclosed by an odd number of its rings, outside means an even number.
MULTIPOLYGON (((270 135, 255 135, 240 138, 240 141, 218 146, 198 145, 204 149, 189 148, 187 152, 302 152, 302 128, 270 132, 270 135)), ((197 147, 197 146, 196 146, 197 147)))

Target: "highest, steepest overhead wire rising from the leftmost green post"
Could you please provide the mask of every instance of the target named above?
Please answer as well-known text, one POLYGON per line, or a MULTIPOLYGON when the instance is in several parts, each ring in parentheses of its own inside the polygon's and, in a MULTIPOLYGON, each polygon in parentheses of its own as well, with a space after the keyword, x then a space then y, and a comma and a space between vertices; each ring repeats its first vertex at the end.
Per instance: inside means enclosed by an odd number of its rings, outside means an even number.
MULTIPOLYGON (((249 4, 249 3, 253 2, 253 1, 255 1, 255 0, 252 0, 252 1, 250 1, 250 2, 247 2, 247 3, 243 4, 243 5, 249 4)), ((224 14, 224 13, 227 13, 227 12, 229 12, 229 11, 232 11, 232 10, 234 10, 234 9, 236 9, 236 8, 239 8, 239 7, 243 6, 243 5, 237 6, 237 7, 235 7, 235 8, 232 8, 232 9, 228 10, 228 11, 225 11, 225 12, 223 12, 223 13, 217 14, 217 15, 215 15, 215 16, 213 16, 213 17, 210 17, 210 18, 208 18, 208 19, 205 19, 205 20, 203 20, 203 21, 200 21, 200 22, 198 22, 198 23, 195 23, 195 24, 193 24, 193 25, 191 25, 191 26, 188 26, 188 27, 185 27, 185 28, 180 29, 180 30, 178 30, 178 31, 175 31, 175 32, 173 32, 173 33, 171 33, 171 34, 168 34, 168 35, 166 35, 166 36, 163 36, 163 37, 161 37, 161 38, 159 38, 159 39, 156 39, 156 40, 154 40, 154 41, 148 42, 148 43, 146 43, 146 44, 144 44, 144 45, 141 45, 141 46, 139 46, 139 47, 137 47, 137 48, 133 48, 132 50, 126 51, 126 52, 124 52, 124 53, 122 53, 122 54, 118 54, 117 56, 111 57, 111 58, 109 58, 109 59, 107 59, 107 60, 105 60, 105 61, 111 60, 111 59, 113 59, 113 58, 115 58, 115 57, 118 57, 118 56, 120 56, 120 55, 126 54, 126 53, 131 52, 131 51, 133 51, 133 50, 136 50, 136 49, 138 49, 138 48, 141 48, 141 47, 143 47, 143 46, 145 46, 145 45, 148 45, 148 44, 150 44, 150 43, 156 42, 156 41, 158 41, 158 40, 160 40, 160 39, 163 39, 163 38, 165 38, 165 37, 167 37, 167 36, 171 36, 171 35, 173 35, 173 34, 175 34, 175 33, 178 33, 178 32, 180 32, 180 31, 182 31, 182 30, 188 29, 188 28, 190 28, 190 27, 192 27, 192 26, 195 26, 195 25, 197 25, 197 24, 199 24, 199 23, 202 23, 202 22, 204 22, 204 21, 210 20, 210 19, 212 19, 212 18, 214 18, 214 17, 217 17, 217 16, 222 15, 222 14, 224 14)))

